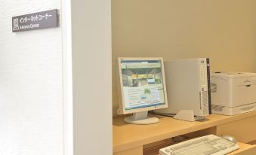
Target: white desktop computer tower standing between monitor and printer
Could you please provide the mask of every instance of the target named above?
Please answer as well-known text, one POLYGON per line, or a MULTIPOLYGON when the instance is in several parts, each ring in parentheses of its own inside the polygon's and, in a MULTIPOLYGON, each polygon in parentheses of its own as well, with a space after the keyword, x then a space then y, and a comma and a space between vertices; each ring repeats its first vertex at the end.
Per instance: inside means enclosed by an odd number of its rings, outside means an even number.
POLYGON ((168 108, 156 110, 156 114, 177 115, 181 111, 192 111, 190 115, 195 120, 211 114, 209 59, 180 59, 164 64, 168 108))

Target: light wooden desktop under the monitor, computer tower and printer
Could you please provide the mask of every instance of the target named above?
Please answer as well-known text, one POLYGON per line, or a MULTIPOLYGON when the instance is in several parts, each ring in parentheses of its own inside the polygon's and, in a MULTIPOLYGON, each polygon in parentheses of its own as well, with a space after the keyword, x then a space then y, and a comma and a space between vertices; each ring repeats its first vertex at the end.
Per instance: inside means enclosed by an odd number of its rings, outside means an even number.
POLYGON ((207 129, 212 126, 253 117, 255 115, 256 111, 235 116, 211 114, 206 117, 206 120, 196 122, 175 120, 171 117, 156 115, 156 117, 159 117, 159 123, 151 125, 127 124, 123 122, 123 117, 119 117, 113 119, 113 152, 128 150, 133 147, 162 141, 166 138, 196 132, 201 129, 207 129))

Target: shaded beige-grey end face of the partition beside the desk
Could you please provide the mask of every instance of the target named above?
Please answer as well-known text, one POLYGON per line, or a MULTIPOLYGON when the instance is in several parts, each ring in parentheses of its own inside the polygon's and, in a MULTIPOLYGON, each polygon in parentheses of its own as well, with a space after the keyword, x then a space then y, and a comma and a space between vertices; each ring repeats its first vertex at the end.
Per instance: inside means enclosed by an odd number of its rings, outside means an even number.
POLYGON ((112 154, 111 1, 72 0, 74 154, 112 154))

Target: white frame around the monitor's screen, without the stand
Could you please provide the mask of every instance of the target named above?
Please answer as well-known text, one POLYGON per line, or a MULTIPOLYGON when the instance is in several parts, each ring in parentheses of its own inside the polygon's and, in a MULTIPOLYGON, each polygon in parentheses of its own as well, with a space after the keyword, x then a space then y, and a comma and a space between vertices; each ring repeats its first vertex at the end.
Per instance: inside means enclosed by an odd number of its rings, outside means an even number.
POLYGON ((118 93, 119 93, 119 109, 118 114, 131 114, 137 113, 142 111, 152 111, 160 108, 168 108, 168 101, 167 101, 167 93, 166 93, 166 84, 165 84, 165 68, 164 68, 164 60, 162 57, 119 57, 117 59, 118 62, 118 93), (165 104, 164 105, 154 105, 145 108, 134 108, 134 109, 125 109, 125 97, 124 97, 124 90, 123 90, 123 83, 122 83, 122 68, 121 68, 121 61, 122 60, 157 60, 161 62, 161 70, 162 70, 162 84, 165 96, 165 104))

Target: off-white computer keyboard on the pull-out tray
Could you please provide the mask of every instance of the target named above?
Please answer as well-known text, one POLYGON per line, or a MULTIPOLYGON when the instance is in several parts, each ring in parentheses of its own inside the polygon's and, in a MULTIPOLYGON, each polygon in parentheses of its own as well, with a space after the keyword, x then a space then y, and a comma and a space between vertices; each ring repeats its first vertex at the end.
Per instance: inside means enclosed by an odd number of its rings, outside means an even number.
POLYGON ((217 135, 205 135, 161 148, 161 155, 224 155, 239 146, 217 135))

